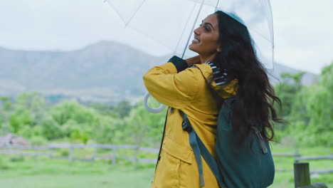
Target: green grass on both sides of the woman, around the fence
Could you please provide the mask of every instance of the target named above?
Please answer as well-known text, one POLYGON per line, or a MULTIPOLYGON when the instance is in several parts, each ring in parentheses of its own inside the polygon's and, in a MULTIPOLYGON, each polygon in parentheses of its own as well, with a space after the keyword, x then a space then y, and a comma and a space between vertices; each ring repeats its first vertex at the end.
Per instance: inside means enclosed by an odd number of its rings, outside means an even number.
MULTIPOLYGON (((273 146, 273 152, 292 152, 291 148, 273 146)), ((329 155, 332 148, 300 150, 305 156, 329 155)), ((293 168, 292 157, 275 157, 277 169, 293 168)), ((310 161, 310 169, 333 169, 330 160, 310 161)), ((41 158, 23 158, 17 155, 0 155, 0 187, 4 188, 102 188, 149 187, 154 175, 154 164, 134 169, 131 163, 120 160, 112 166, 107 161, 68 162, 41 158)), ((333 187, 333 174, 320 174, 312 182, 324 182, 333 187)), ((294 187, 293 172, 276 172, 272 188, 294 187)))

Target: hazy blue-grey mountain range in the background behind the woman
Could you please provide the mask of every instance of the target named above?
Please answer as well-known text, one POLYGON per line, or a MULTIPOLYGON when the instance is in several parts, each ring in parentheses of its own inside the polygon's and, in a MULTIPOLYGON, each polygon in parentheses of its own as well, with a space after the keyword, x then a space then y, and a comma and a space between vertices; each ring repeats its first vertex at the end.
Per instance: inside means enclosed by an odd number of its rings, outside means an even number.
MULTIPOLYGON (((77 51, 0 48, 0 95, 38 91, 51 98, 116 103, 141 97, 145 93, 142 75, 168 59, 110 41, 77 51)), ((298 71, 275 63, 273 76, 279 78, 282 72, 298 71)), ((306 73, 303 83, 313 83, 316 77, 306 73)))

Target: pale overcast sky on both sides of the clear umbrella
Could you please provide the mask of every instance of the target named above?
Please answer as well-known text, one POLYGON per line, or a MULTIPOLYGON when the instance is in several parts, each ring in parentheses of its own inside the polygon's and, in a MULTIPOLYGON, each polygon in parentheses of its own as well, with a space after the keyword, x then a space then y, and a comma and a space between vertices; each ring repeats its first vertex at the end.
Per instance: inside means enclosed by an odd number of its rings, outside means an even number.
MULTIPOLYGON (((277 62, 319 73, 333 61, 332 0, 272 0, 271 4, 277 62)), ((165 53, 125 30, 103 0, 0 0, 1 47, 70 51, 102 40, 127 43, 155 56, 165 53)))

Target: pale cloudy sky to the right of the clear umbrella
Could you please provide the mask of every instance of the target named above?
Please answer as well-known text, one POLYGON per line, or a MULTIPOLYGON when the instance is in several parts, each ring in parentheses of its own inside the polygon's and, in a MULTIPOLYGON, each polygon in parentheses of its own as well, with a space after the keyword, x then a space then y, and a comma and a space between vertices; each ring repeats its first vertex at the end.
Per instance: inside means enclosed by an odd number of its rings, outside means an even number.
POLYGON ((333 1, 274 0, 275 58, 319 73, 333 61, 333 1))

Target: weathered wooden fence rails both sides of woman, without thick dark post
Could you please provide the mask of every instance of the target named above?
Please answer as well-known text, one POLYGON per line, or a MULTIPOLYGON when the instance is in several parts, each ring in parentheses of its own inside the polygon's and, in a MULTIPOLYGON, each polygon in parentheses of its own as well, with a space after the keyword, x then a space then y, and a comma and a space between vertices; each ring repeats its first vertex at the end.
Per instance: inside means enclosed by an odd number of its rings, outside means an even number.
MULTIPOLYGON (((95 160, 112 160, 112 164, 117 163, 117 159, 125 159, 129 162, 134 162, 134 165, 137 167, 138 163, 156 163, 157 159, 144 159, 139 158, 139 152, 150 152, 152 154, 157 154, 159 152, 158 149, 147 148, 147 147, 138 147, 136 145, 73 145, 73 144, 56 144, 56 145, 48 145, 48 146, 7 146, 0 147, 0 154, 16 154, 23 156, 33 156, 36 160, 40 156, 46 156, 51 159, 61 159, 61 160, 69 160, 73 162, 74 160, 83 160, 83 161, 95 161, 95 160), (89 158, 75 157, 74 150, 75 149, 87 149, 93 148, 93 155, 89 158), (68 149, 68 156, 56 156, 56 149, 68 149), (110 155, 97 155, 97 150, 111 150, 110 155), (118 155, 117 150, 134 150, 133 156, 128 155, 118 155)), ((312 157, 302 157, 300 153, 273 153, 274 157, 294 157, 295 162, 301 161, 310 161, 310 160, 333 160, 333 155, 326 156, 312 156, 312 157)), ((277 172, 292 172, 293 169, 275 169, 277 172)), ((322 173, 333 173, 333 169, 317 169, 310 171, 310 174, 322 174, 322 173)))

